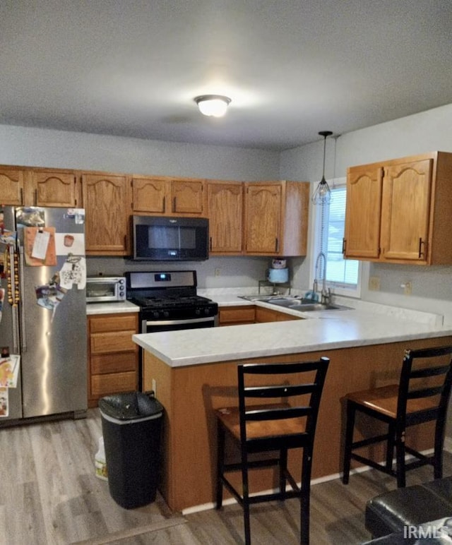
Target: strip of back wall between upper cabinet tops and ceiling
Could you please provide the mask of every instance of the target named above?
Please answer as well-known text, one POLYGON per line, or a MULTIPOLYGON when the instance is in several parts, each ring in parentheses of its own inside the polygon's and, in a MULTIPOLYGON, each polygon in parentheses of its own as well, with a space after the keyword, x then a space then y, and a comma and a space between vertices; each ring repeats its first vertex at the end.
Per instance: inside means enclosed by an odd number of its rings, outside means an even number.
POLYGON ((0 164, 247 181, 279 176, 277 152, 6 125, 0 164))

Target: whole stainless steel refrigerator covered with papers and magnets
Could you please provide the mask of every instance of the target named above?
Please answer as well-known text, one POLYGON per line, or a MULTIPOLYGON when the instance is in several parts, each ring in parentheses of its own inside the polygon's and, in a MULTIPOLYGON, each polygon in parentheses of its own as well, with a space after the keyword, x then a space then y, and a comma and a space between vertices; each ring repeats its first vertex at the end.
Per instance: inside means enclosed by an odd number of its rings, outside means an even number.
POLYGON ((84 219, 83 209, 0 205, 0 426, 85 416, 84 219))

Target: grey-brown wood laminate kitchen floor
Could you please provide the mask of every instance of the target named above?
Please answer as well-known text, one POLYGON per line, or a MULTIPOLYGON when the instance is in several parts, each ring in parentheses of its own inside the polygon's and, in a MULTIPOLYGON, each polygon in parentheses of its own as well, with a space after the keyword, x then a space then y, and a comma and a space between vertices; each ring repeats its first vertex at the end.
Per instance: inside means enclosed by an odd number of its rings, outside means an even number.
MULTIPOLYGON (((154 503, 126 510, 109 496, 108 484, 95 477, 94 457, 102 427, 98 409, 81 420, 53 421, 0 429, 0 543, 66 544, 242 544, 242 510, 182 516, 171 513, 157 494, 154 503)), ((446 455, 445 474, 452 473, 446 455)), ((432 479, 423 467, 408 474, 408 484, 432 479)), ((364 506, 376 494, 396 488, 379 472, 352 474, 311 488, 311 544, 354 545, 369 539, 364 506)), ((299 502, 251 507, 254 544, 297 544, 299 502)))

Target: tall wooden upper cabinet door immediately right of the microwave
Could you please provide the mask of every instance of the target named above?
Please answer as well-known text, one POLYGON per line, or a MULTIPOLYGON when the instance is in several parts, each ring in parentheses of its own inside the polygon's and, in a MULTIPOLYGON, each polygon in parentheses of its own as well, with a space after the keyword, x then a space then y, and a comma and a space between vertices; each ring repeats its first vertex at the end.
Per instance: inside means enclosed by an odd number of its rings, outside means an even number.
POLYGON ((242 253, 243 184, 208 182, 210 253, 242 253))

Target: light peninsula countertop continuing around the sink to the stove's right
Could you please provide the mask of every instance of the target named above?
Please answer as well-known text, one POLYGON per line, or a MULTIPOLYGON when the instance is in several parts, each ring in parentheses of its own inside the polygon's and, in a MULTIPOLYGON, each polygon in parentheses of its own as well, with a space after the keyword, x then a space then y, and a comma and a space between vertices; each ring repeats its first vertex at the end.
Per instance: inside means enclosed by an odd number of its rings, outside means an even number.
POLYGON ((180 367, 452 335, 451 326, 442 325, 442 316, 433 313, 341 297, 335 297, 333 302, 355 308, 299 313, 263 302, 246 301, 237 297, 237 292, 237 289, 218 293, 198 289, 198 294, 210 297, 220 306, 256 304, 305 319, 230 325, 209 328, 208 332, 192 329, 145 333, 133 335, 133 341, 167 365, 180 367))

